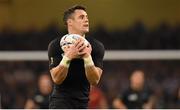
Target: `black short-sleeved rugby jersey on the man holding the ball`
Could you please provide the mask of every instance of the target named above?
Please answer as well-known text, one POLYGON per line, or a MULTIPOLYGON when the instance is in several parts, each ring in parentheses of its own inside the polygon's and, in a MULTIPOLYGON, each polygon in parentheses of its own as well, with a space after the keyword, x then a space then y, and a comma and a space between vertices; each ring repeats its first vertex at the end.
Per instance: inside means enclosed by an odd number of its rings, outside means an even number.
MULTIPOLYGON (((86 37, 92 46, 91 56, 95 66, 103 68, 104 46, 92 37, 86 37)), ((49 68, 59 65, 63 57, 60 47, 61 38, 56 38, 48 46, 49 68)), ((52 97, 73 98, 88 101, 90 84, 86 78, 83 59, 73 59, 70 63, 66 79, 60 84, 54 84, 52 97)))

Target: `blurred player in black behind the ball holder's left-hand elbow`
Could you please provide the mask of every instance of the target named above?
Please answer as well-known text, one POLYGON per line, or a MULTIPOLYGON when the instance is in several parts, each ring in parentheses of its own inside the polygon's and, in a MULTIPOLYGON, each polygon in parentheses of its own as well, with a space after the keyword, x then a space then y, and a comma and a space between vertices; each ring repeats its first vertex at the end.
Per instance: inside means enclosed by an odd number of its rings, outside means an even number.
POLYGON ((52 90, 52 82, 50 76, 47 74, 40 75, 38 79, 38 90, 34 96, 27 99, 26 109, 48 109, 49 94, 52 90))

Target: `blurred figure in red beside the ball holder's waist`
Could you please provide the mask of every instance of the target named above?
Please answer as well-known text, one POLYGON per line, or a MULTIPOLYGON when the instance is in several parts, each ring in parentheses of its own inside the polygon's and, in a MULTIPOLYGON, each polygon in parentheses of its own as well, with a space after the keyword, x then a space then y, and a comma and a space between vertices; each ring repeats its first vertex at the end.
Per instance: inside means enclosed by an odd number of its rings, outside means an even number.
POLYGON ((89 109, 107 109, 107 99, 104 93, 98 87, 91 86, 91 91, 89 95, 89 109))

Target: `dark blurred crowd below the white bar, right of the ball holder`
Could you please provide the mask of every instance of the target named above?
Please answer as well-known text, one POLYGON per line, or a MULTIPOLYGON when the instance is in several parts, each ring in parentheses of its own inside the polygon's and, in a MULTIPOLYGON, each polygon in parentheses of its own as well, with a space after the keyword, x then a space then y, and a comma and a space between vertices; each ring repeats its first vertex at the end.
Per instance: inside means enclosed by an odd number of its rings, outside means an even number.
POLYGON ((140 69, 146 77, 145 86, 156 96, 154 108, 180 108, 179 65, 180 62, 176 60, 105 61, 104 74, 99 86, 105 91, 112 108, 114 98, 128 88, 132 72, 140 69))

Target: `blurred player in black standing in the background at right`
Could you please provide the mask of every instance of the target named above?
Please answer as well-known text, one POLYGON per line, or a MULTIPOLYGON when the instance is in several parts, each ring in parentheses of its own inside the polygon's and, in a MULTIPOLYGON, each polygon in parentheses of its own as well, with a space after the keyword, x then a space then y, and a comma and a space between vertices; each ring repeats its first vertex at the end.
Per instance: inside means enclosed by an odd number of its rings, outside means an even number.
POLYGON ((120 109, 151 109, 154 105, 154 96, 144 84, 144 72, 136 70, 130 77, 130 87, 116 98, 114 108, 120 109))

